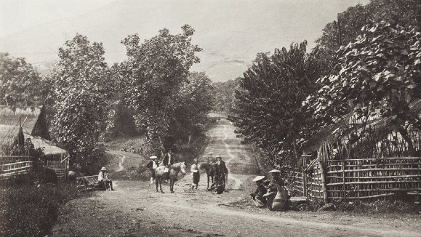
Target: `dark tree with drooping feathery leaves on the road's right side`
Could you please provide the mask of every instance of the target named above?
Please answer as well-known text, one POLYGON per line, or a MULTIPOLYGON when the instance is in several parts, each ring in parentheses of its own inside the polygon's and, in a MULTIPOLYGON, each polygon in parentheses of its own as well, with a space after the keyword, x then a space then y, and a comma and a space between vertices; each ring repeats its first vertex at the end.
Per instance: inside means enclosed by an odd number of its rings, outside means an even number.
POLYGON ((258 54, 236 90, 239 132, 245 142, 279 150, 296 150, 296 143, 311 127, 301 102, 315 91, 318 68, 306 53, 307 42, 291 44, 290 50, 258 54))

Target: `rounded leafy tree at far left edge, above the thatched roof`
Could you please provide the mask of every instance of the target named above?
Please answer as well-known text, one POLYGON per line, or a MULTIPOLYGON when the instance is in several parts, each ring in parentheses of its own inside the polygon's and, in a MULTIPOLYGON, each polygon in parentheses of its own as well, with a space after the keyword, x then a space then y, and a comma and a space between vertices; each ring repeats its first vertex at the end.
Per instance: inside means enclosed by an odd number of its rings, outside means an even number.
POLYGON ((0 53, 0 104, 31 105, 47 94, 47 88, 24 58, 0 53))

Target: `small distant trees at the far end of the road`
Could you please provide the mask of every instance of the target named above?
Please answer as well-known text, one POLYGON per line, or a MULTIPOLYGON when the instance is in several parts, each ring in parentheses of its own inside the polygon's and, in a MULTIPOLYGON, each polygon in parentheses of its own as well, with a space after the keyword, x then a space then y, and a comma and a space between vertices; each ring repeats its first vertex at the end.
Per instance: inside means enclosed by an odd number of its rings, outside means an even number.
POLYGON ((213 95, 215 98, 214 110, 230 113, 234 106, 234 90, 239 85, 240 78, 226 82, 214 82, 213 95))

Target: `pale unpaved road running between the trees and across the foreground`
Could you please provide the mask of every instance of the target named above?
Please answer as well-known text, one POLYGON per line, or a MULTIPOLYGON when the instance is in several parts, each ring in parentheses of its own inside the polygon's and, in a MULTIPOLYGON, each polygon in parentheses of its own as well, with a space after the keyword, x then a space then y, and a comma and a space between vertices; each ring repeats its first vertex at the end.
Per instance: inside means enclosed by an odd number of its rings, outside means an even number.
MULTIPOLYGON (((226 161, 229 192, 207 192, 205 173, 200 176, 199 190, 190 192, 188 172, 175 184, 175 193, 169 192, 166 183, 165 193, 156 193, 149 182, 114 180, 116 191, 98 192, 93 199, 140 225, 163 227, 166 236, 421 236, 419 218, 401 221, 335 212, 272 212, 250 205, 249 193, 255 189, 251 180, 259 168, 251 148, 240 144, 234 130, 225 118, 219 120, 208 130, 209 143, 204 150, 204 154, 220 154, 226 161), (245 208, 218 205, 221 203, 243 203, 245 208)), ((124 159, 120 165, 124 167, 124 159)))

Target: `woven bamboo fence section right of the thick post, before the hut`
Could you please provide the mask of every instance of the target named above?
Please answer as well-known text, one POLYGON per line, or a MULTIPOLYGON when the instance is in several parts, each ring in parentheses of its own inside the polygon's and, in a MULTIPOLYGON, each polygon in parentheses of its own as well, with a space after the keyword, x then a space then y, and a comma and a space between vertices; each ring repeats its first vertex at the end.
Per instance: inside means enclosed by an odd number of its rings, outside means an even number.
POLYGON ((329 199, 391 199, 396 191, 421 195, 421 158, 330 160, 329 199))

